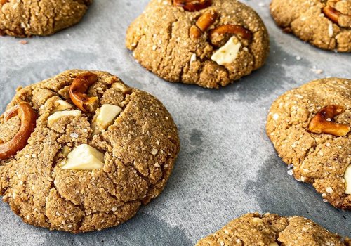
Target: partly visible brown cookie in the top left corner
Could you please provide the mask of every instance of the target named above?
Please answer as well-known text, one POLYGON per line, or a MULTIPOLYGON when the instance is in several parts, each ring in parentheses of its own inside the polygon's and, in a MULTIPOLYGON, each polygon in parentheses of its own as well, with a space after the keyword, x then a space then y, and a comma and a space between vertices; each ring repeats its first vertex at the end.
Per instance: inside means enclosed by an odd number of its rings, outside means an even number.
POLYGON ((77 24, 93 0, 0 0, 0 35, 47 36, 77 24))

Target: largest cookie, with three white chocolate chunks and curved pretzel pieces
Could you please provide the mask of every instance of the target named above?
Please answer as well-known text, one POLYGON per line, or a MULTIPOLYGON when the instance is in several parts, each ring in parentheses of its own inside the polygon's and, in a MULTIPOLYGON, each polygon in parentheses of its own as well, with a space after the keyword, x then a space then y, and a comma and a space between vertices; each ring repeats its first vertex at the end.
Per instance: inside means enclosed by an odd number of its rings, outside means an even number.
POLYGON ((0 195, 34 226, 117 226, 156 198, 179 151, 164 105, 107 72, 18 89, 0 118, 0 195))

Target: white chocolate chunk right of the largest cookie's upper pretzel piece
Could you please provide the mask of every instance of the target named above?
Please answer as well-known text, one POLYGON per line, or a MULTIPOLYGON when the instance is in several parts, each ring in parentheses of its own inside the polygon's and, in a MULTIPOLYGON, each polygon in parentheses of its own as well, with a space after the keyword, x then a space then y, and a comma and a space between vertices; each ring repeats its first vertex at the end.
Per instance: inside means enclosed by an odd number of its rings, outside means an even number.
POLYGON ((107 129, 110 124, 116 119, 119 113, 122 111, 119 106, 104 104, 97 110, 96 115, 93 119, 93 135, 100 134, 102 130, 107 129))

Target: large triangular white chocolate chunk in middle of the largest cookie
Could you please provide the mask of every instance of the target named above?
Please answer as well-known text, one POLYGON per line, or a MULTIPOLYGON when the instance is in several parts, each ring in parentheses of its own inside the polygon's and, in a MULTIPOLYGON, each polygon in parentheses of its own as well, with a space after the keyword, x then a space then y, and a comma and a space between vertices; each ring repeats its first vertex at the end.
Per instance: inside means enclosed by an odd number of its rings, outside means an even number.
POLYGON ((104 165, 104 154, 87 144, 81 144, 68 154, 68 160, 62 169, 93 170, 104 165))

